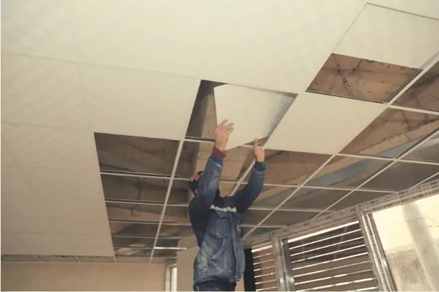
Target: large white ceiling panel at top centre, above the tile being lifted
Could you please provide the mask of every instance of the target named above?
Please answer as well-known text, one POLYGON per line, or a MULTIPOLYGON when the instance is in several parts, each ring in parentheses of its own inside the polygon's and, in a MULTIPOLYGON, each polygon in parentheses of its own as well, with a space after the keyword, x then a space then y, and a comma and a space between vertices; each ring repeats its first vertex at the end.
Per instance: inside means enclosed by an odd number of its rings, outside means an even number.
POLYGON ((294 93, 311 83, 364 3, 75 1, 75 40, 86 62, 294 93))

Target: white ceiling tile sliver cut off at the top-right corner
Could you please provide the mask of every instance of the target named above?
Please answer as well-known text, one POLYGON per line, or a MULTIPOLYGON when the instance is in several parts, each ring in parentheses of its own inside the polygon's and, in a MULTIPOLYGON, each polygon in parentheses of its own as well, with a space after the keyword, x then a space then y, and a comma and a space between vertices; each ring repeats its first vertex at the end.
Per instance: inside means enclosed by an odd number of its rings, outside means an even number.
POLYGON ((368 0, 368 3, 439 19, 439 1, 437 0, 368 0))

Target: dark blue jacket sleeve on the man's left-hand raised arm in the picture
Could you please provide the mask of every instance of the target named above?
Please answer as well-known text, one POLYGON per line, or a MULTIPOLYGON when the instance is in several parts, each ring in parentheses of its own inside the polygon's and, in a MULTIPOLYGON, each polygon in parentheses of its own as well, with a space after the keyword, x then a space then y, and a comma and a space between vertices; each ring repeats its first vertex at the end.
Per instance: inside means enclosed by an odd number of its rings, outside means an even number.
POLYGON ((211 157, 207 160, 198 184, 197 193, 189 206, 189 212, 204 212, 211 208, 221 178, 225 154, 213 148, 211 157))

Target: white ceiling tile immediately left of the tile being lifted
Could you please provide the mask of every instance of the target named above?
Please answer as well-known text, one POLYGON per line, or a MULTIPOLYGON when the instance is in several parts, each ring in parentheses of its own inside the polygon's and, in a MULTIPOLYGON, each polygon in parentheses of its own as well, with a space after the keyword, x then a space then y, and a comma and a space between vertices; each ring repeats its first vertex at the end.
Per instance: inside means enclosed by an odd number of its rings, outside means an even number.
POLYGON ((94 132, 180 139, 185 136, 200 80, 81 66, 94 132))

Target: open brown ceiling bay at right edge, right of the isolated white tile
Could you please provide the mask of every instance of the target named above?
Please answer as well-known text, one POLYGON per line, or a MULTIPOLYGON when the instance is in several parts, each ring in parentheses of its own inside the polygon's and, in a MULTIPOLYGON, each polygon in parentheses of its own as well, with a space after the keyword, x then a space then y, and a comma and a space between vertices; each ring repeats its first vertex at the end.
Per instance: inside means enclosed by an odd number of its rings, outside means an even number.
MULTIPOLYGON (((341 152, 396 158, 438 127, 439 116, 434 114, 389 108, 375 121, 372 121, 341 152)), ((423 149, 426 148, 423 147, 423 149)), ((422 152, 424 160, 434 160, 436 156, 434 147, 422 152)))

